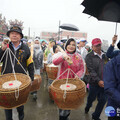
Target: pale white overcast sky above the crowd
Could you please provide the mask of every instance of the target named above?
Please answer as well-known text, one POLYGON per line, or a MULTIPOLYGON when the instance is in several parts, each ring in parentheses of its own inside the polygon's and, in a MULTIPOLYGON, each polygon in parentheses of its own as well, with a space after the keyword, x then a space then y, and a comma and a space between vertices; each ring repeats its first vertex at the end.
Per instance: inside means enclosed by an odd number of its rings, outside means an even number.
MULTIPOLYGON (((80 4, 83 0, 0 0, 0 13, 7 21, 18 19, 24 22, 23 33, 39 36, 41 31, 57 32, 59 20, 61 24, 76 25, 80 32, 88 33, 88 41, 99 37, 109 40, 115 33, 115 23, 98 21, 94 17, 83 14, 80 4)), ((118 24, 118 34, 120 28, 118 24)), ((119 38, 119 36, 118 36, 119 38)))

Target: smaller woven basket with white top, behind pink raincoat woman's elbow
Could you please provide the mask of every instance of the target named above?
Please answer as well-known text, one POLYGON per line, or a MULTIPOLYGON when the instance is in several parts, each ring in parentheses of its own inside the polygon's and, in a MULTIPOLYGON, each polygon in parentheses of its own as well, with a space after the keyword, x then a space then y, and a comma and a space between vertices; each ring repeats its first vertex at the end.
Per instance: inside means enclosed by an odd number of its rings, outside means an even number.
POLYGON ((58 67, 53 64, 47 65, 46 72, 49 79, 55 80, 57 78, 58 67))

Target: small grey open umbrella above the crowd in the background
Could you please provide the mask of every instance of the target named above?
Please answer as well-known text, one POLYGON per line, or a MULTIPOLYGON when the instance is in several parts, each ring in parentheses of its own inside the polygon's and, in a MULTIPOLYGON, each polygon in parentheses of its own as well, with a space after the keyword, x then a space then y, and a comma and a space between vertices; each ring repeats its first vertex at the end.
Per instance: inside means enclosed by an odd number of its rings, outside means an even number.
POLYGON ((59 27, 64 30, 79 31, 79 28, 73 24, 62 24, 59 27))

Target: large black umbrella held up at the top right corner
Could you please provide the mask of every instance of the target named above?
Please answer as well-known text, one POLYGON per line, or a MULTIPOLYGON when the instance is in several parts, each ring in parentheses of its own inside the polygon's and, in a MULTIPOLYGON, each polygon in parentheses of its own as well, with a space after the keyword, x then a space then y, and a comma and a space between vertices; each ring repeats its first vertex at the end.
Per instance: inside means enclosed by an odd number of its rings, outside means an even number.
MULTIPOLYGON (((98 20, 120 22, 120 0, 84 0, 83 13, 96 17, 98 20)), ((117 24, 115 34, 117 31, 117 24)))

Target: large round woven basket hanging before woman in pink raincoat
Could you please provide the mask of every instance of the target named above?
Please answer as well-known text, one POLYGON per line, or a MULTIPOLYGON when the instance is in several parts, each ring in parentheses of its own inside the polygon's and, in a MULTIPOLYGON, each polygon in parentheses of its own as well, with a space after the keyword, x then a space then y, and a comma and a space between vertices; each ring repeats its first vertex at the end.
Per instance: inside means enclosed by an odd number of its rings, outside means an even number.
POLYGON ((84 97, 86 95, 86 86, 85 83, 78 79, 69 79, 68 83, 76 85, 75 90, 65 91, 60 89, 62 84, 66 83, 66 79, 55 80, 51 84, 51 95, 54 102, 60 109, 72 110, 77 109, 84 102, 84 97))

